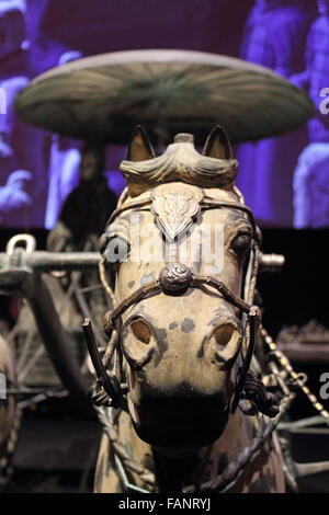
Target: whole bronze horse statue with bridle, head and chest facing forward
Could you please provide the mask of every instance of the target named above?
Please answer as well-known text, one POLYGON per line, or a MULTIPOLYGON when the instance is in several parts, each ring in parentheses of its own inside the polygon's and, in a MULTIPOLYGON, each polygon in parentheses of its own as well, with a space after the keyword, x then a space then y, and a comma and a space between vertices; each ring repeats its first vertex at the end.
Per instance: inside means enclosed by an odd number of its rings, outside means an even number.
POLYGON ((100 239, 112 307, 93 362, 95 492, 284 492, 280 410, 254 356, 261 236, 224 130, 202 154, 180 134, 156 157, 138 127, 121 171, 100 239))

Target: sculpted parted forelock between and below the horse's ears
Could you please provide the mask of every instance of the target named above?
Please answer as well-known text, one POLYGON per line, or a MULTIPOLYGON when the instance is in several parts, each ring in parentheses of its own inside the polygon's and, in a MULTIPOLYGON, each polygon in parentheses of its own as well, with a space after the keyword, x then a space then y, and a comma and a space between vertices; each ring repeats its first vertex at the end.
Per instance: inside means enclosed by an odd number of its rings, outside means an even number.
POLYGON ((191 141, 169 145, 166 152, 144 161, 122 161, 120 165, 131 196, 159 184, 184 182, 200 187, 228 187, 238 173, 236 159, 203 156, 191 141))

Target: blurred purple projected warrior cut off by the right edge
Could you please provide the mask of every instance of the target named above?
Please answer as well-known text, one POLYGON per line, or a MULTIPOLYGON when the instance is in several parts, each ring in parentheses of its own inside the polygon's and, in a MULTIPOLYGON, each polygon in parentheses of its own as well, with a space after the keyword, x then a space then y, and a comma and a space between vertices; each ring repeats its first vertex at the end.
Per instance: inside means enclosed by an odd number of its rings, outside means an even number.
POLYGON ((294 173, 297 229, 329 226, 329 0, 318 0, 318 10, 307 38, 306 70, 292 78, 308 93, 316 108, 308 123, 309 145, 300 153, 294 173))

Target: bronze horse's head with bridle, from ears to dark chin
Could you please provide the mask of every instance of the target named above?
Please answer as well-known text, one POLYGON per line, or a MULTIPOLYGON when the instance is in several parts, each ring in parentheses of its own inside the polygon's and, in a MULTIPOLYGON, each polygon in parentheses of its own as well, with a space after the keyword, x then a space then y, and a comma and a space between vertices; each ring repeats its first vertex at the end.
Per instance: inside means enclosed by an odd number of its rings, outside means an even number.
POLYGON ((226 427, 252 332, 258 232, 238 163, 220 127, 203 153, 181 134, 159 157, 138 127, 121 171, 127 188, 103 250, 131 417, 152 446, 201 447, 226 427))

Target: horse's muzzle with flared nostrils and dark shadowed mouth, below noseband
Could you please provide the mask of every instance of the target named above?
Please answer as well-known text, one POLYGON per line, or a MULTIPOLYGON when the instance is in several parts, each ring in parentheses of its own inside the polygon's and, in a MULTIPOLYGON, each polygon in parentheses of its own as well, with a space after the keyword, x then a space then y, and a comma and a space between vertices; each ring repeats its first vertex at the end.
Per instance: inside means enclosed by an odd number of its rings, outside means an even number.
POLYGON ((141 318, 126 327, 123 352, 128 407, 138 436, 161 447, 201 447, 219 438, 234 392, 242 342, 239 321, 209 334, 159 333, 141 318))

